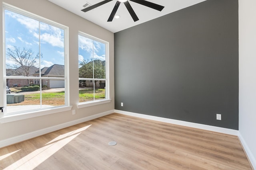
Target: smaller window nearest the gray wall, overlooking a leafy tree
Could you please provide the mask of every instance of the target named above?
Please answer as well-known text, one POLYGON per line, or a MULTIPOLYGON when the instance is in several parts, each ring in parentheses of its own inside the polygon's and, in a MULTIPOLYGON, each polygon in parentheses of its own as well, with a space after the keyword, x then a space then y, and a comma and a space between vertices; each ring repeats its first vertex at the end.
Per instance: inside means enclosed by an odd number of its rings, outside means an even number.
POLYGON ((78 47, 80 104, 108 100, 108 43, 79 33, 78 47))

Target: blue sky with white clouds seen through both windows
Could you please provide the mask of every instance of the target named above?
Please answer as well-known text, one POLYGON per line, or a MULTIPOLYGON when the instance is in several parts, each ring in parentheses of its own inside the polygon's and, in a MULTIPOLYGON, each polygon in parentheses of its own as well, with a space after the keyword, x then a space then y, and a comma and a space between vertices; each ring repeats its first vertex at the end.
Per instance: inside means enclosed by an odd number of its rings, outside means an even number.
MULTIPOLYGON (((34 55, 42 56, 36 67, 50 67, 53 64, 64 65, 64 30, 26 16, 5 10, 6 49, 32 49, 34 55), (40 35, 40 36, 39 36, 40 35), (39 41, 40 37, 40 41, 39 41), (40 46, 39 46, 40 44, 40 46), (40 63, 40 64, 39 64, 40 63)), ((84 36, 78 37, 78 60, 100 59, 105 61, 105 44, 84 36)), ((14 62, 6 57, 6 65, 14 62)))

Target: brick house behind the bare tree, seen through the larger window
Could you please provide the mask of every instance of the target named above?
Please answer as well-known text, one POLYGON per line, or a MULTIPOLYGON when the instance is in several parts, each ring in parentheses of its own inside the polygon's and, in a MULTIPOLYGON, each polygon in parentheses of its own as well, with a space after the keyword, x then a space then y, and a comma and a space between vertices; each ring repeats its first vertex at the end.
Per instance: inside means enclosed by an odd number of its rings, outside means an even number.
MULTIPOLYGON (((28 70, 28 76, 33 76, 35 72, 38 71, 38 68, 31 66, 28 70)), ((21 66, 17 69, 6 69, 6 76, 25 76, 24 70, 21 66)), ((23 87, 33 84, 33 80, 25 79, 6 79, 6 86, 8 87, 23 87)))

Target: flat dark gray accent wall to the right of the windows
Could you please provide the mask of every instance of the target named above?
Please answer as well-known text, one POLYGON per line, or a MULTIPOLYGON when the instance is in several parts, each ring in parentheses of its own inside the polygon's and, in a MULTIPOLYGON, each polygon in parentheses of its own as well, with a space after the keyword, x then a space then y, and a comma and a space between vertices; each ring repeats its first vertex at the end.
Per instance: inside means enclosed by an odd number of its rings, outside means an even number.
POLYGON ((117 32, 114 47, 115 109, 238 130, 238 0, 117 32))

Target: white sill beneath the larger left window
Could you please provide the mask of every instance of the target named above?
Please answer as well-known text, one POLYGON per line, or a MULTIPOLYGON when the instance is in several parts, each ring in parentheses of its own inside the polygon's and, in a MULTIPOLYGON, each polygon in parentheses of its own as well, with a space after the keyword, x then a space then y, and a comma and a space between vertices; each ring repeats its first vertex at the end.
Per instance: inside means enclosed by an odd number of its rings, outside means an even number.
POLYGON ((54 107, 54 108, 47 108, 47 109, 41 109, 38 111, 29 111, 26 113, 20 113, 15 115, 5 115, 4 117, 0 118, 0 123, 8 123, 12 121, 18 121, 23 119, 29 119, 32 117, 38 117, 43 115, 49 115, 52 113, 59 113, 62 111, 69 111, 71 110, 72 106, 62 106, 62 107, 54 107))

